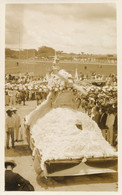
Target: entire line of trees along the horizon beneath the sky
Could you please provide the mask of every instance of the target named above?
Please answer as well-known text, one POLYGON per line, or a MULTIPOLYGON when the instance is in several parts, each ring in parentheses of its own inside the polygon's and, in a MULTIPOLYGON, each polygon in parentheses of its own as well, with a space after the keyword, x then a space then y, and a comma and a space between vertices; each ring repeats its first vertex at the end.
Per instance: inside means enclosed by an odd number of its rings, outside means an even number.
MULTIPOLYGON (((87 59, 89 61, 95 60, 117 60, 117 55, 95 55, 95 54, 86 54, 81 52, 79 54, 76 53, 64 53, 63 51, 56 51, 56 55, 60 60, 83 60, 87 59)), ((14 58, 14 59, 35 59, 35 58, 44 58, 44 59, 53 59, 55 56, 55 49, 47 46, 39 47, 36 49, 21 49, 21 50, 12 50, 9 48, 5 49, 5 57, 6 58, 14 58)))

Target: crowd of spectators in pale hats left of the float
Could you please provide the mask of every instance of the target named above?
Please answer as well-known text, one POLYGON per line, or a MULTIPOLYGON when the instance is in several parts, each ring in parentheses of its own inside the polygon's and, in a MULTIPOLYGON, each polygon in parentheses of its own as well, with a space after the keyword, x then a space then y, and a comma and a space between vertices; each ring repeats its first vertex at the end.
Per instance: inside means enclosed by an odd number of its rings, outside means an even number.
POLYGON ((26 101, 31 100, 37 100, 37 104, 39 104, 47 97, 44 84, 43 78, 34 78, 28 74, 22 76, 6 75, 5 105, 25 105, 26 101))

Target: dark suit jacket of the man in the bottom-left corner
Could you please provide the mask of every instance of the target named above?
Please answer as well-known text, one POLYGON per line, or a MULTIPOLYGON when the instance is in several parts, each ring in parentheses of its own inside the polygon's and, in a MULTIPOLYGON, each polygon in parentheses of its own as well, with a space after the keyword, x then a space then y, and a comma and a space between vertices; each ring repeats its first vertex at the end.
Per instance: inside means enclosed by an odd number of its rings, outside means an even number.
POLYGON ((18 191, 19 187, 29 183, 18 173, 14 173, 11 170, 5 171, 5 191, 18 191))

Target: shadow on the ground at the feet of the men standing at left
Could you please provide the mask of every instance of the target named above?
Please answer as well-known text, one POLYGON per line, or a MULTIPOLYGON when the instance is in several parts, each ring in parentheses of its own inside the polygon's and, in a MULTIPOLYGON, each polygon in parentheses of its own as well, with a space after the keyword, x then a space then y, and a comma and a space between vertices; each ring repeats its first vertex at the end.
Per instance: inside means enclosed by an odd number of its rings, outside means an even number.
POLYGON ((28 145, 17 145, 15 148, 5 149, 6 157, 30 156, 32 152, 28 145))

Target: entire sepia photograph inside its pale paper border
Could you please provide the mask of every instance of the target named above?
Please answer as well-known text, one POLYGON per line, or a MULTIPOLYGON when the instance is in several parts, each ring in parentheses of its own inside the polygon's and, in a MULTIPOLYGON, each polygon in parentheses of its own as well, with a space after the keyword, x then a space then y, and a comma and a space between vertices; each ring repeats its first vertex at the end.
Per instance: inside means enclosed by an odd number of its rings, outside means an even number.
POLYGON ((116 3, 5 5, 5 191, 118 192, 116 3))

